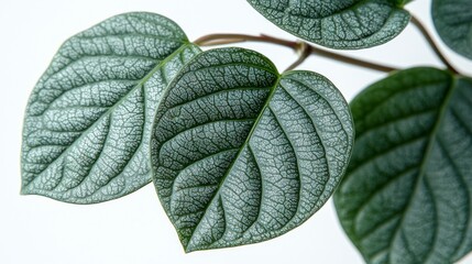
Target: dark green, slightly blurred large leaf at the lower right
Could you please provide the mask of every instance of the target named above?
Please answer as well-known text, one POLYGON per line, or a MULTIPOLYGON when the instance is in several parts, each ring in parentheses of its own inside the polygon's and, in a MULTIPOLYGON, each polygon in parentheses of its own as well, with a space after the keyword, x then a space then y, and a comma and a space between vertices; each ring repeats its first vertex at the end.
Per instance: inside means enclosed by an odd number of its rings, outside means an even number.
POLYGON ((334 194, 367 263, 452 263, 472 249, 472 80, 398 72, 351 103, 355 144, 334 194))

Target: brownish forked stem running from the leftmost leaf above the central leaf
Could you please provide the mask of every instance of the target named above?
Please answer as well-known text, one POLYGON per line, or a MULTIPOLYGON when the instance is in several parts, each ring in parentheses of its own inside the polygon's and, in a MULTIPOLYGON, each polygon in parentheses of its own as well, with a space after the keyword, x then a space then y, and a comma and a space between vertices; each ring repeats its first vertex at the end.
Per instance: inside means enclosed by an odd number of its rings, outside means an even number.
POLYGON ((194 43, 199 46, 215 46, 215 45, 224 45, 224 44, 232 44, 232 43, 241 43, 241 42, 265 42, 265 43, 272 43, 277 44, 282 46, 289 47, 294 50, 295 52, 299 53, 298 59, 293 63, 286 70, 294 69, 298 65, 300 65, 309 55, 318 55, 326 58, 336 59, 342 63, 352 64, 356 66, 361 66, 364 68, 370 68, 383 73, 389 73, 392 70, 397 70, 397 68, 384 66, 349 56, 344 56, 341 54, 337 54, 333 52, 325 51, 319 47, 316 47, 314 45, 310 45, 307 42, 294 42, 294 41, 286 41, 278 37, 273 37, 268 35, 246 35, 246 34, 210 34, 205 35, 196 40, 194 43))

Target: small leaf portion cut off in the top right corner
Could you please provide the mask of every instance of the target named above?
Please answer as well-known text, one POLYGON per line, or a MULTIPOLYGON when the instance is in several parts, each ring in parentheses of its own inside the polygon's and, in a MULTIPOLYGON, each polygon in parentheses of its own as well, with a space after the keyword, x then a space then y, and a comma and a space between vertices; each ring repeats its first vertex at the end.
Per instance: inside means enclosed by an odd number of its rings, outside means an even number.
POLYGON ((433 0, 431 15, 446 45, 472 59, 472 1, 433 0))

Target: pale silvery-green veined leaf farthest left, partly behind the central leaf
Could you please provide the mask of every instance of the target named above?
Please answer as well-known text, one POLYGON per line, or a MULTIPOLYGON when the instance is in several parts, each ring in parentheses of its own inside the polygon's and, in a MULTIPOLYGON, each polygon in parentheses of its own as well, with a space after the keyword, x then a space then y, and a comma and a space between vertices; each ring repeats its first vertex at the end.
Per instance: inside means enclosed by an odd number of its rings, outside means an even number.
POLYGON ((94 204, 150 183, 157 102, 197 53, 152 13, 117 15, 66 41, 28 103, 22 194, 94 204))

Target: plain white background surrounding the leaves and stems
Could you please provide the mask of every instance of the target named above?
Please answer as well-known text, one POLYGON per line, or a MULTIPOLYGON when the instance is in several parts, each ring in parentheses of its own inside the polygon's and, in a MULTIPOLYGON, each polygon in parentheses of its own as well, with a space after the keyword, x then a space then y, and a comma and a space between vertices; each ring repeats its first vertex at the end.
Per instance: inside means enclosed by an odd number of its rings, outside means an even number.
MULTIPOLYGON (((185 254, 151 185, 122 199, 76 206, 20 196, 20 146, 29 94, 67 37, 111 15, 150 11, 176 21, 190 40, 209 33, 266 33, 288 40, 244 0, 0 0, 0 263, 363 263, 339 226, 332 201, 301 227, 271 241, 185 254)), ((431 31, 429 1, 407 9, 431 31)), ((435 35, 436 37, 436 35, 435 35)), ((295 54, 270 44, 245 44, 283 70, 295 54)), ((472 64, 441 45, 462 73, 472 64)), ((396 67, 442 67, 418 31, 408 26, 386 45, 342 52, 396 67)), ((330 78, 348 100, 385 76, 311 56, 303 69, 330 78)), ((461 263, 472 263, 472 256, 461 263)))

